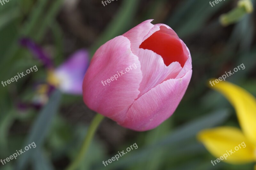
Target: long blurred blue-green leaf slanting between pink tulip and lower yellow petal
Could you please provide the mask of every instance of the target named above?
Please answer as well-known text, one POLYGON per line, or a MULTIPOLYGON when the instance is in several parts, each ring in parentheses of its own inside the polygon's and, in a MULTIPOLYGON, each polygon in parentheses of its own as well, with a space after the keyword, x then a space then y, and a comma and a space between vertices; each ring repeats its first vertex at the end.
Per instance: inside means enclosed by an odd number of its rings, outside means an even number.
MULTIPOLYGON (((155 144, 145 148, 140 148, 139 146, 139 150, 137 152, 133 151, 133 153, 131 152, 129 155, 125 155, 124 158, 120 158, 117 162, 112 163, 107 167, 114 169, 121 166, 125 167, 138 161, 144 161, 149 155, 153 155, 156 150, 160 148, 164 148, 166 150, 168 146, 172 146, 179 142, 188 140, 191 137, 195 137, 200 130, 219 125, 226 121, 228 116, 228 110, 218 110, 188 122, 185 125, 176 128, 164 138, 159 139, 155 144)), ((100 167, 101 166, 99 166, 99 168, 100 167)))

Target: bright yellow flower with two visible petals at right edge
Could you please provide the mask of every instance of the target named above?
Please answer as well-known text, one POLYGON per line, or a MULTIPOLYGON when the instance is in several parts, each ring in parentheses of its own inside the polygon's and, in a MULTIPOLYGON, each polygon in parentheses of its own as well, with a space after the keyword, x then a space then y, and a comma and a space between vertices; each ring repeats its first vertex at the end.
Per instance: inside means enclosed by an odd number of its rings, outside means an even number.
MULTIPOLYGON (((236 110, 241 129, 218 127, 198 133, 198 139, 216 158, 231 164, 256 161, 256 99, 243 88, 220 81, 212 86, 221 92, 236 110)), ((220 160, 216 159, 213 165, 220 160)), ((254 166, 256 170, 256 165, 254 166)))

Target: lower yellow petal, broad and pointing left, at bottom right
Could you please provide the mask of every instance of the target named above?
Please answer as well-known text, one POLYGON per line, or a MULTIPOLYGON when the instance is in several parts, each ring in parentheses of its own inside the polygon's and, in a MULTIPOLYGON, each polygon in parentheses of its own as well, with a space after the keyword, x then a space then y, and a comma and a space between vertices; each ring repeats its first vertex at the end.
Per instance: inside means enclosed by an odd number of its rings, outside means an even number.
POLYGON ((224 162, 239 164, 256 160, 253 144, 238 128, 205 129, 199 132, 197 137, 214 157, 223 159, 224 162), (223 158, 220 158, 221 156, 223 158))

